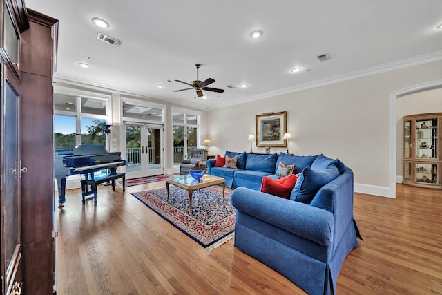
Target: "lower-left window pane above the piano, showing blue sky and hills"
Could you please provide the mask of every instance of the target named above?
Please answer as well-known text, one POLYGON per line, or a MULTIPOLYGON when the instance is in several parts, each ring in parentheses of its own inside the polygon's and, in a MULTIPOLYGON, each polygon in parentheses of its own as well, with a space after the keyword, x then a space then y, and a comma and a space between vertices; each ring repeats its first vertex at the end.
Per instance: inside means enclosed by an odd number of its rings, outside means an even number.
POLYGON ((70 149, 75 146, 76 117, 54 116, 54 149, 70 149))

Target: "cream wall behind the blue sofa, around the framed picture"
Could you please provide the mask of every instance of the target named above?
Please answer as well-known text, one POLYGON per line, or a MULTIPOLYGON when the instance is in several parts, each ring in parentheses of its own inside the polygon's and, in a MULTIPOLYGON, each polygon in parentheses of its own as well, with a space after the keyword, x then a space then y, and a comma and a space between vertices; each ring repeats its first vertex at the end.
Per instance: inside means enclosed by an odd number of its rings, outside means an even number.
POLYGON ((249 151, 255 115, 287 111, 291 153, 340 158, 354 171, 355 191, 394 197, 390 163, 396 155, 390 155, 390 131, 396 133, 396 126, 392 129, 390 119, 396 106, 390 106, 391 95, 432 81, 442 81, 442 61, 211 110, 209 152, 249 151))

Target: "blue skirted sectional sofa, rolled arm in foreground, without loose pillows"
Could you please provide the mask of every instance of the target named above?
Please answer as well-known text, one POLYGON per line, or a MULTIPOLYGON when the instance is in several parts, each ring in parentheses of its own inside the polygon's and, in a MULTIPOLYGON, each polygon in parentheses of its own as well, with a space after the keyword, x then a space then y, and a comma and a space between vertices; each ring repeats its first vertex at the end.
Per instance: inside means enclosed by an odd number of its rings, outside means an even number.
MULTIPOLYGON (((247 171, 238 168, 231 175, 236 188, 231 194, 236 208, 235 247, 309 294, 336 294, 343 261, 358 246, 356 237, 361 238, 353 216, 352 169, 323 155, 281 153, 276 162, 280 160, 296 164, 299 173, 290 199, 256 189, 253 176, 261 173, 237 178, 236 173, 247 171), (251 187, 240 186, 246 183, 251 187)), ((224 171, 216 168, 212 172, 218 175, 224 171)), ((277 178, 274 173, 267 176, 277 178)))

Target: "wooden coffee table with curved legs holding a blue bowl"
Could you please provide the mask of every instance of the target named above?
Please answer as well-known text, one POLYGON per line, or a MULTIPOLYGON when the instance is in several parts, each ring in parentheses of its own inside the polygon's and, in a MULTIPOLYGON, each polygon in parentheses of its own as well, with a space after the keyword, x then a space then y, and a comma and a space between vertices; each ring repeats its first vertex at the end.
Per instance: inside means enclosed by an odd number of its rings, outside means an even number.
POLYGON ((222 184, 222 198, 224 199, 224 191, 226 190, 226 180, 218 176, 204 175, 200 180, 187 175, 171 175, 166 180, 167 199, 169 199, 169 184, 180 187, 189 192, 189 211, 192 213, 192 194, 195 189, 204 189, 215 184, 222 184))

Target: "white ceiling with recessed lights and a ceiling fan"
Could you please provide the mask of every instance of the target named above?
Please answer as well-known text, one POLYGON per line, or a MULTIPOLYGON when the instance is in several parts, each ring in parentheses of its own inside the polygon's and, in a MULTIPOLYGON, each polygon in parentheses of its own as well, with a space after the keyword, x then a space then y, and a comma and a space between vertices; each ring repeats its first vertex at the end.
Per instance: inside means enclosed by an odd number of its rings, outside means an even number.
POLYGON ((442 59, 441 0, 26 0, 26 6, 59 19, 57 79, 202 109, 442 59), (98 28, 93 17, 111 27, 98 28), (260 39, 249 37, 255 29, 264 32, 260 39), (97 32, 123 43, 106 44, 97 32), (319 62, 323 53, 331 59, 319 62), (196 79, 197 63, 200 80, 215 79, 210 87, 224 93, 204 91, 207 99, 195 99, 192 90, 173 92, 186 88, 175 79, 196 79), (290 73, 296 66, 302 71, 290 73))

